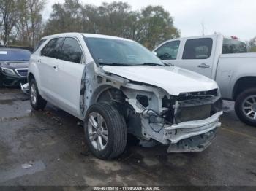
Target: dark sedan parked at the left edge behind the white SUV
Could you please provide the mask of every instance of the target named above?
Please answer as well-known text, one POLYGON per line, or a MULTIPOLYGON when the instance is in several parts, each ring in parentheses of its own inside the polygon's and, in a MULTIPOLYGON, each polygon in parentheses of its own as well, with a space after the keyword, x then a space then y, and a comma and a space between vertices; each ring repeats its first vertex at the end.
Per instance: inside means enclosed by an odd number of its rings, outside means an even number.
POLYGON ((18 87, 27 82, 29 50, 0 48, 0 87, 18 87))

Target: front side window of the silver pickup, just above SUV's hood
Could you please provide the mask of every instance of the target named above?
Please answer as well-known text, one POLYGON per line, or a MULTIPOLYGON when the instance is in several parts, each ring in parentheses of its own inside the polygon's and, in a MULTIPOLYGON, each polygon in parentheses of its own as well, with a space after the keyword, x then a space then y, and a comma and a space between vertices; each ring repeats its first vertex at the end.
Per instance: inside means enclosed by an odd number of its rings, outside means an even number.
POLYGON ((180 41, 167 42, 159 47, 156 52, 161 60, 176 60, 180 41))

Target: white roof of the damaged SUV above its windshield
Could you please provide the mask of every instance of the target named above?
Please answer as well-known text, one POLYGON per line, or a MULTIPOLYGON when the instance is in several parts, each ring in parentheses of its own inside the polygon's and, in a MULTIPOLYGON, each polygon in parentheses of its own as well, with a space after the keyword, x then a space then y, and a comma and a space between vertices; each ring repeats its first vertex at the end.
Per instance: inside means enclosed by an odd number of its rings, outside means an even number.
POLYGON ((88 38, 103 38, 103 39, 120 39, 120 40, 125 40, 125 41, 130 41, 133 42, 131 39, 124 39, 121 37, 117 36, 108 36, 108 35, 103 35, 103 34, 86 34, 86 33, 61 33, 61 34, 53 34, 50 36, 45 36, 42 37, 41 40, 47 40, 47 39, 52 39, 54 37, 60 37, 60 36, 85 36, 88 38))

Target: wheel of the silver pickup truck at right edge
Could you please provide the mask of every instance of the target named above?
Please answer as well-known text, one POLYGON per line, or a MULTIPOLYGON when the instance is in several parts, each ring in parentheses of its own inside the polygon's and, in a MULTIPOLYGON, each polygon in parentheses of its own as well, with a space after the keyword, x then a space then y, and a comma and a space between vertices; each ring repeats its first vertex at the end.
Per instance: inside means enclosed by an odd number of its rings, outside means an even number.
POLYGON ((245 90, 238 95, 235 111, 242 122, 256 127, 256 88, 245 90))

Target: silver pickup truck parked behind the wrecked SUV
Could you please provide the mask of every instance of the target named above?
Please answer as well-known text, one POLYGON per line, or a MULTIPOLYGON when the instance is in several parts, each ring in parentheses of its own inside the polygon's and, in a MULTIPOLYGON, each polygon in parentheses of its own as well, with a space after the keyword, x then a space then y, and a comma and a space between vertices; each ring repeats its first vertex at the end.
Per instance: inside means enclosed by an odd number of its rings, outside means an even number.
POLYGON ((222 34, 171 39, 154 52, 164 62, 214 79, 222 98, 236 101, 241 121, 256 126, 256 53, 235 36, 222 34))

